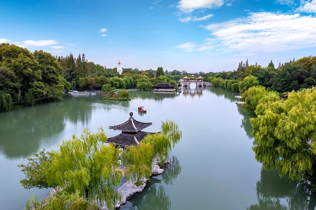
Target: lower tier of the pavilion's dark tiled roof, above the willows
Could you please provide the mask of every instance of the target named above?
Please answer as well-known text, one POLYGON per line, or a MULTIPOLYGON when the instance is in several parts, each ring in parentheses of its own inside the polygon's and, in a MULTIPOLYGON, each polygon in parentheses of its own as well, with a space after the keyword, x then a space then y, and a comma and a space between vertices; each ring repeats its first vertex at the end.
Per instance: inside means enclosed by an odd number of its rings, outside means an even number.
POLYGON ((153 133, 144 131, 139 131, 137 133, 121 133, 108 138, 107 143, 115 143, 119 147, 136 146, 147 134, 153 133))

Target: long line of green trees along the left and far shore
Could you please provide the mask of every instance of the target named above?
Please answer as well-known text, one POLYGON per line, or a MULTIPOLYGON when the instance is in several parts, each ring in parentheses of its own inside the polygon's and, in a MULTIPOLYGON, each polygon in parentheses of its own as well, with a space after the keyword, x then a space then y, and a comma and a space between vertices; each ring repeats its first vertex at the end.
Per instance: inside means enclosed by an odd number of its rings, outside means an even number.
MULTIPOLYGON (((186 72, 185 72, 186 73, 186 72)), ((138 88, 150 91, 157 83, 176 84, 181 72, 170 73, 138 68, 107 68, 89 62, 84 54, 52 56, 43 50, 30 52, 13 44, 0 45, 0 112, 17 106, 32 106, 38 101, 61 100, 63 91, 138 88)), ((109 91, 108 91, 109 92, 109 91)))

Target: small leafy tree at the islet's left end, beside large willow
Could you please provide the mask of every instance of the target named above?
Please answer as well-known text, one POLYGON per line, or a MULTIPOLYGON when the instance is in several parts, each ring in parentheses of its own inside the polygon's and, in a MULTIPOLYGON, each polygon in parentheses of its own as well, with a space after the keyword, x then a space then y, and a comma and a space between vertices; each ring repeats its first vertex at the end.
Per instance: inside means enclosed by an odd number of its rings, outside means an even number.
POLYGON ((50 162, 50 155, 45 152, 45 149, 36 153, 33 158, 28 158, 28 164, 18 165, 22 168, 22 172, 26 176, 20 182, 25 189, 36 188, 49 188, 56 187, 55 185, 48 185, 46 176, 44 173, 43 164, 50 162))

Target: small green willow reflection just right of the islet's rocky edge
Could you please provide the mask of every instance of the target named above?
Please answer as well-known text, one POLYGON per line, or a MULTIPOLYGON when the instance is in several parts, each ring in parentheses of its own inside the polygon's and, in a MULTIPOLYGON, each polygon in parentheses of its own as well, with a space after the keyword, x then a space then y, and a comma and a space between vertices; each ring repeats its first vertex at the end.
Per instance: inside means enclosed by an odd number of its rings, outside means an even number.
POLYGON ((165 184, 172 184, 174 180, 177 179, 178 175, 181 173, 181 165, 177 157, 172 156, 170 164, 166 165, 165 171, 162 174, 162 179, 165 184))

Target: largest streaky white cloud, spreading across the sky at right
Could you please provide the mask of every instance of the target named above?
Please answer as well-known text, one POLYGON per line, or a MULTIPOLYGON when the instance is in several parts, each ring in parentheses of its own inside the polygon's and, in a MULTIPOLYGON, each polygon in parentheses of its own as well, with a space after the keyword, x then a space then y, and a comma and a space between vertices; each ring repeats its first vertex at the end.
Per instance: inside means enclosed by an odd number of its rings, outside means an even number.
POLYGON ((204 43, 177 47, 207 53, 241 51, 275 52, 316 46, 316 18, 299 14, 251 13, 248 17, 202 26, 211 32, 204 43), (211 51, 212 50, 212 51, 211 51))

